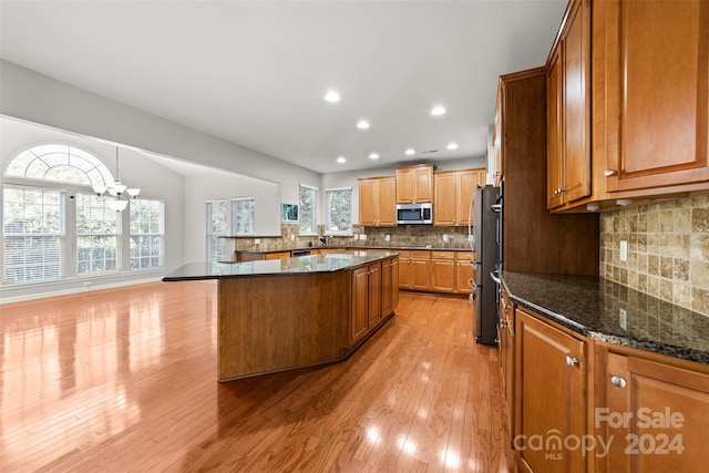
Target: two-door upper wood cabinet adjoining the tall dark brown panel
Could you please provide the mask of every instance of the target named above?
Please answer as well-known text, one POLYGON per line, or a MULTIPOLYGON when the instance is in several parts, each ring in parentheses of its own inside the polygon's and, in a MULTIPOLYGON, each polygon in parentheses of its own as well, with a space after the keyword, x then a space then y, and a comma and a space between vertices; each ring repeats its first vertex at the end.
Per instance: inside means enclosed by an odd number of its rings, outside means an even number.
POLYGON ((590 6, 572 0, 549 55, 547 207, 590 195, 590 6))

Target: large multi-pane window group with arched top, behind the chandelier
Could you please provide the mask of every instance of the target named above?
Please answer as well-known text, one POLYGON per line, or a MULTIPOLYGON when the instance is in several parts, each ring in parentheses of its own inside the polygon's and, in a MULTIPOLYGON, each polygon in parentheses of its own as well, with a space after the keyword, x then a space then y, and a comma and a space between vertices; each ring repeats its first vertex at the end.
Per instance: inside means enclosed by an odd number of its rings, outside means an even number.
POLYGON ((93 154, 66 144, 35 145, 18 153, 4 176, 2 284, 162 267, 164 204, 133 199, 121 225, 122 214, 91 188, 114 182, 93 154), (143 220, 150 225, 141 226, 143 220))

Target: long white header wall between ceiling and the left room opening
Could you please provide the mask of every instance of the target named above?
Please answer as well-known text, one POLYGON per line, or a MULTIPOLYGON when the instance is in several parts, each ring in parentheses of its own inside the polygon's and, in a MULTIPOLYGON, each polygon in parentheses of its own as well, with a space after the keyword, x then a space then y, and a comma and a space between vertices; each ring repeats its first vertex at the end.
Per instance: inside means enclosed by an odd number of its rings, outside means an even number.
POLYGON ((282 202, 320 175, 0 60, 0 114, 280 184, 282 202))

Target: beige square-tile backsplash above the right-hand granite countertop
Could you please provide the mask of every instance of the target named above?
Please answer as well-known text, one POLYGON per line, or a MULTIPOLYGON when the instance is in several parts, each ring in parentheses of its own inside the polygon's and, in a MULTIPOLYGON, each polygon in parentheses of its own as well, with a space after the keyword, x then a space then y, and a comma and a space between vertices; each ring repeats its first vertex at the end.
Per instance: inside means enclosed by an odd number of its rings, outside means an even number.
POLYGON ((602 213, 600 276, 709 317, 709 195, 602 213))

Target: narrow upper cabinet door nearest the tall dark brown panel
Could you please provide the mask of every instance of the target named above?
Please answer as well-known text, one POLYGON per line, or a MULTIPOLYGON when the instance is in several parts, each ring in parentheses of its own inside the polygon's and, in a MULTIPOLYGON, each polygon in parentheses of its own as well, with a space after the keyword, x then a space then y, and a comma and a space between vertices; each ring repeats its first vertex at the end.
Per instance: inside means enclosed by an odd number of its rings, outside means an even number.
POLYGON ((562 48, 557 45, 551 55, 546 73, 546 208, 564 204, 563 95, 562 48))

